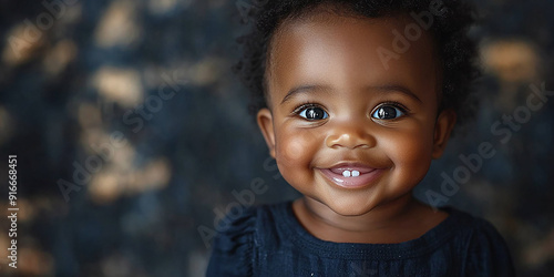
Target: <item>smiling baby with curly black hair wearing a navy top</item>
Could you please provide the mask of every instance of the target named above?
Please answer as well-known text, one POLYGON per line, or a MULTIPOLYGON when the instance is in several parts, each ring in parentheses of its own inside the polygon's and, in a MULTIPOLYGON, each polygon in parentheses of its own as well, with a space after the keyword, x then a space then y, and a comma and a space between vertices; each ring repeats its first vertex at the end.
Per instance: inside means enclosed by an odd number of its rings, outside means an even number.
POLYGON ((269 1, 238 70, 283 177, 304 196, 247 209, 207 276, 513 276, 494 227, 412 189, 476 75, 461 1, 269 1))

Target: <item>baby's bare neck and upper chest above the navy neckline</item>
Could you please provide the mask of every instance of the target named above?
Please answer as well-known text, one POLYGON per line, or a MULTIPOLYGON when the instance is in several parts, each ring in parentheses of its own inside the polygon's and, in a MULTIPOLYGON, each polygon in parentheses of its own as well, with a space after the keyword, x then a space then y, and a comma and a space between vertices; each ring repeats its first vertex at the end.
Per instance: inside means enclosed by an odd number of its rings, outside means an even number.
POLYGON ((342 216, 315 199, 293 203, 300 224, 315 237, 335 243, 396 244, 416 239, 448 217, 411 195, 359 216, 342 216))

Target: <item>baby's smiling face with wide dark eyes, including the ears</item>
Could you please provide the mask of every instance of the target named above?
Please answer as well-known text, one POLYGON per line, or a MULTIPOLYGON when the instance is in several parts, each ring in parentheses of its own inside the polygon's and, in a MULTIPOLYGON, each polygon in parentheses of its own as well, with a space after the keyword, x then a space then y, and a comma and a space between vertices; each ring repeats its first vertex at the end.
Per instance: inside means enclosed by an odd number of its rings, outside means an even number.
MULTIPOLYGON (((455 121, 438 114, 437 60, 423 33, 388 69, 410 19, 291 22, 275 38, 270 110, 258 123, 285 179, 341 215, 401 199, 442 154, 455 121)), ((334 18, 335 17, 335 18, 334 18)))

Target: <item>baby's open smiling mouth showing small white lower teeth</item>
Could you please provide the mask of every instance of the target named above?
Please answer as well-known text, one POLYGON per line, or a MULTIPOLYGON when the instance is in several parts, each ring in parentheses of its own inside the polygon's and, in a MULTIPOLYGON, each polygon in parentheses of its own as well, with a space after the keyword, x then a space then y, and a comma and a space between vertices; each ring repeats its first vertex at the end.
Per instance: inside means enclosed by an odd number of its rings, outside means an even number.
POLYGON ((375 183, 383 168, 360 163, 340 163, 329 168, 318 168, 329 181, 343 188, 361 188, 375 183))

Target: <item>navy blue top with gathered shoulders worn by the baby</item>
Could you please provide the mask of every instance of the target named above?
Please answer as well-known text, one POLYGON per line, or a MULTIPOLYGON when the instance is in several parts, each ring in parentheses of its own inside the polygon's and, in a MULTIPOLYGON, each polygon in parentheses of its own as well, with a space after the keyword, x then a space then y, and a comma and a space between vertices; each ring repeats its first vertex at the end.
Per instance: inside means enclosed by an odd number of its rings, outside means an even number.
POLYGON ((400 244, 349 244, 310 235, 291 203, 250 207, 214 240, 206 276, 514 276, 505 242, 488 222, 449 213, 400 244))

